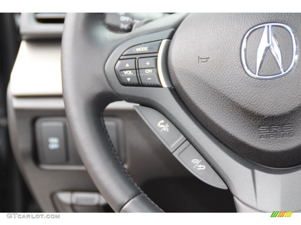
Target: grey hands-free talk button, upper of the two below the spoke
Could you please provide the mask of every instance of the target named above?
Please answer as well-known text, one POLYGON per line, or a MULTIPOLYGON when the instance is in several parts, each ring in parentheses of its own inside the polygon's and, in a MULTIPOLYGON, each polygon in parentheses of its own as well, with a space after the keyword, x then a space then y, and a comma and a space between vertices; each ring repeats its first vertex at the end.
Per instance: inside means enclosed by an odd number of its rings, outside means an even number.
POLYGON ((134 106, 134 109, 170 152, 174 152, 186 140, 181 132, 157 110, 144 106, 134 106))

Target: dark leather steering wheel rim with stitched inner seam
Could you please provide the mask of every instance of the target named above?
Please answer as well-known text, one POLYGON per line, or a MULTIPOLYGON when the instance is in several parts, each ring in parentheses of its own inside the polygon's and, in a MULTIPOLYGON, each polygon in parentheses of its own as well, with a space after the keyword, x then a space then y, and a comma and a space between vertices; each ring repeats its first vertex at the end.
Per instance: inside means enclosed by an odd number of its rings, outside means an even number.
POLYGON ((177 27, 186 14, 152 23, 148 29, 116 34, 104 13, 67 13, 62 37, 63 98, 76 147, 98 190, 115 212, 163 212, 138 187, 120 161, 102 113, 121 99, 107 81, 104 65, 122 42, 150 32, 177 27))

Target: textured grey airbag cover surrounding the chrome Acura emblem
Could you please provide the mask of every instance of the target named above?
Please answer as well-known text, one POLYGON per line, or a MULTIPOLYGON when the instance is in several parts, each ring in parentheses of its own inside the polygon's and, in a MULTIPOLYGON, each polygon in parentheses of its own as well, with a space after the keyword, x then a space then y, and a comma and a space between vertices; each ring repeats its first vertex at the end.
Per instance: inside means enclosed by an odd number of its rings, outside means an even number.
MULTIPOLYGON (((191 112, 219 140, 239 155, 269 167, 301 163, 301 68, 277 79, 255 79, 241 61, 242 40, 262 23, 290 26, 301 37, 301 15, 293 13, 191 13, 176 31, 169 49, 172 82, 191 112)), ((284 69, 292 61, 290 34, 274 27, 284 69)), ((250 35, 247 59, 256 70, 263 28, 250 35)), ((299 50, 296 50, 299 53, 299 50)), ((271 51, 262 73, 279 67, 271 51)))

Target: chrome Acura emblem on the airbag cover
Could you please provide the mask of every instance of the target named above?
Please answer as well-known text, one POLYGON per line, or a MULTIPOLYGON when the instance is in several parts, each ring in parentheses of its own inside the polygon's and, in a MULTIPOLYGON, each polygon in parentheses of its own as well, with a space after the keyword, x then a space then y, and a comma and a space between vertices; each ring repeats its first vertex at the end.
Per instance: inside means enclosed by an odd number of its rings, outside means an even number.
MULTIPOLYGON (((251 54, 248 52, 248 54, 251 54)), ((250 29, 246 35, 244 36, 242 46, 241 46, 241 61, 244 66, 244 69, 246 70, 247 74, 257 78, 257 79, 275 79, 279 78, 281 76, 285 76, 287 73, 289 73, 291 70, 293 70, 296 62, 298 59, 298 45, 297 45, 297 40, 296 40, 296 35, 294 34, 293 29, 291 29, 289 26, 283 23, 265 23, 261 24, 258 26, 253 27, 250 29), (282 51, 281 51, 281 46, 277 39, 276 33, 274 28, 275 27, 280 27, 282 29, 286 29, 287 32, 290 34, 291 38, 291 45, 292 49, 282 49, 286 51, 291 51, 291 62, 288 64, 289 66, 287 68, 284 68, 284 62, 283 62, 283 56, 282 56, 282 51), (252 54, 255 54, 255 59, 256 59, 256 68, 253 69, 253 71, 250 69, 248 66, 247 62, 247 41, 250 35, 256 31, 257 29, 262 29, 262 36, 259 40, 259 45, 257 48, 257 52, 251 52, 252 54), (262 64, 265 60, 265 56, 268 51, 271 51, 272 56, 274 57, 278 68, 279 68, 279 73, 276 74, 261 74, 260 69, 262 68, 262 64)))

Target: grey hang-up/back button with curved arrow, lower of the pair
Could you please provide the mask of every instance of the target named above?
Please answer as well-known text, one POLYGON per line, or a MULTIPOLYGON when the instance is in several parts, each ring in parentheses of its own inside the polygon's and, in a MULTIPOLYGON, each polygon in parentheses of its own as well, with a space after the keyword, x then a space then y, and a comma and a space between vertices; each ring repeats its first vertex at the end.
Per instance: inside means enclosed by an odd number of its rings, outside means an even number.
POLYGON ((173 155, 187 170, 203 182, 214 187, 228 189, 219 175, 188 141, 175 150, 173 155))

